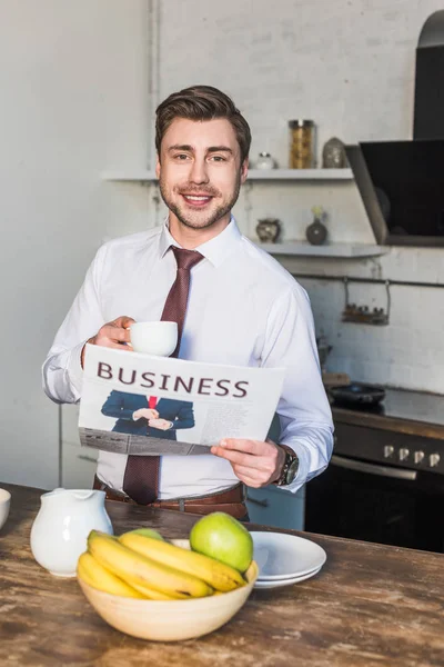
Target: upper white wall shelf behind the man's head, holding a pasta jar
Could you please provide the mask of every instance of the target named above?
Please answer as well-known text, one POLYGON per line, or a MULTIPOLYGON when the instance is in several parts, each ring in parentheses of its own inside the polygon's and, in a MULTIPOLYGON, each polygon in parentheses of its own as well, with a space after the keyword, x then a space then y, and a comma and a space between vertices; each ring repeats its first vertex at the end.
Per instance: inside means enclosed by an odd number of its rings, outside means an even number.
MULTIPOLYGON (((104 171, 102 180, 127 182, 157 181, 153 170, 104 171)), ((351 169, 250 169, 248 180, 353 180, 351 169)))

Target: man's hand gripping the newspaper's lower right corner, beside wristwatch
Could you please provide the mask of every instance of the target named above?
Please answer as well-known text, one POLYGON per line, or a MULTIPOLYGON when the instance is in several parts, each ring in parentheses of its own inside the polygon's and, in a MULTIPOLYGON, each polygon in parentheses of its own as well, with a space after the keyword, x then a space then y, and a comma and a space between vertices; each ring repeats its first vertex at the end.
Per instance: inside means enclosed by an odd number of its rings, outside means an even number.
POLYGON ((271 440, 225 438, 211 454, 230 461, 238 479, 255 489, 279 479, 285 462, 285 451, 271 440))

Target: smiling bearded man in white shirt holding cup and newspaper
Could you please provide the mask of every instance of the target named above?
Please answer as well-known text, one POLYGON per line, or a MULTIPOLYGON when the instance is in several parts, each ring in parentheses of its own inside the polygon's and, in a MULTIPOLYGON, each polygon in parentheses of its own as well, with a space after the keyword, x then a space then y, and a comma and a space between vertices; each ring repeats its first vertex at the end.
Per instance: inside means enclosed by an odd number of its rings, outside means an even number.
MULTIPOLYGON (((243 485, 278 484, 295 491, 325 469, 331 456, 332 418, 310 302, 281 265, 240 233, 231 216, 248 176, 251 142, 232 100, 206 86, 171 94, 157 110, 155 142, 168 220, 98 251, 44 362, 44 389, 56 401, 78 401, 85 342, 129 349, 123 344, 130 341, 130 323, 173 319, 165 316, 182 290, 186 311, 174 315, 183 326, 180 358, 286 368, 279 444, 224 439, 208 456, 165 456, 159 465, 154 506, 203 514, 225 505, 240 517, 243 485), (183 256, 191 258, 186 270, 183 256)), ((128 490, 135 464, 125 458, 100 452, 98 479, 109 497, 137 497, 128 490)), ((138 485, 148 485, 154 478, 139 462, 138 485)))

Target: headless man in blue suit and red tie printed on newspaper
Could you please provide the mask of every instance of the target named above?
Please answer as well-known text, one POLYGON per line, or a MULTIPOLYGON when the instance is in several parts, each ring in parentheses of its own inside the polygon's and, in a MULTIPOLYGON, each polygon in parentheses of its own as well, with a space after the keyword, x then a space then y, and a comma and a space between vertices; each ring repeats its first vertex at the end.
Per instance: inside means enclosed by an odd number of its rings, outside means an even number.
POLYGON ((113 431, 176 440, 176 430, 193 428, 193 404, 173 398, 112 390, 102 406, 102 415, 115 417, 113 431))

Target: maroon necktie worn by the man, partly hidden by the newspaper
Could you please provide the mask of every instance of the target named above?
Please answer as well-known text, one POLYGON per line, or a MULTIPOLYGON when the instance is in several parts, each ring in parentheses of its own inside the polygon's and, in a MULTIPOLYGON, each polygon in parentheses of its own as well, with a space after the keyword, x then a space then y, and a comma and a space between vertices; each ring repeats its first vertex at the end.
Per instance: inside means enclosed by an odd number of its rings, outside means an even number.
MULTIPOLYGON (((171 357, 179 354, 190 290, 190 271, 203 259, 195 250, 172 247, 178 273, 167 297, 161 320, 178 322, 178 345, 171 357)), ((160 417, 161 418, 161 417, 160 417)), ((123 490, 139 505, 153 502, 159 494, 160 456, 129 456, 123 478, 123 490)))

